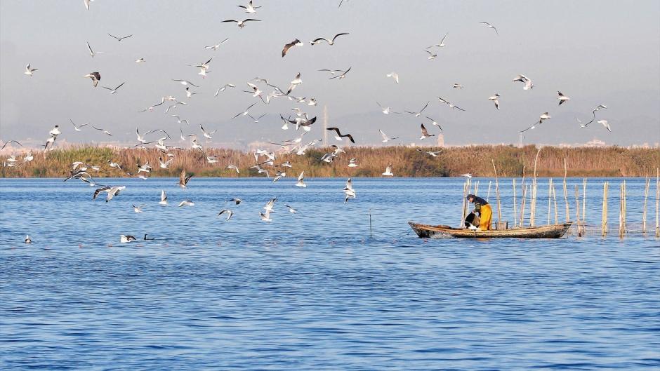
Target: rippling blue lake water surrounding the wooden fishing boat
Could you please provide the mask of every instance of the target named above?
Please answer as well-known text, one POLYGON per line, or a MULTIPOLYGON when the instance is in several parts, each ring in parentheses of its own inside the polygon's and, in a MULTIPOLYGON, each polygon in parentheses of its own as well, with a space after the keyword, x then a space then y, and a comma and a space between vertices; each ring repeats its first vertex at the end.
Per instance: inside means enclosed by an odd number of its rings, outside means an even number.
MULTIPOLYGON (((621 180, 611 181, 614 230, 621 180)), ((458 224, 462 179, 358 178, 345 204, 345 179, 101 182, 126 190, 105 203, 79 181, 0 180, 0 370, 660 368, 652 237, 417 238, 408 220, 458 224), (194 207, 178 208, 186 198, 194 207)), ((627 182, 638 228, 643 180, 627 182)), ((511 180, 501 188, 513 220, 511 180)), ((547 193, 541 180, 537 224, 547 193)), ((602 180, 589 180, 587 201, 600 224, 602 180)))

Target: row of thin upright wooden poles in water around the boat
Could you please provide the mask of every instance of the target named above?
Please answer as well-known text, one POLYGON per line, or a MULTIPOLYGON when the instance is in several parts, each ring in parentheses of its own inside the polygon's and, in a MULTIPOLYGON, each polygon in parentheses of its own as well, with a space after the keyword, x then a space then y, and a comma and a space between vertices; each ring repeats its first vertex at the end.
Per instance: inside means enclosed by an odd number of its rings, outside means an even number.
MULTIPOLYGON (((527 203, 527 196, 528 196, 528 189, 529 192, 531 193, 529 195, 529 227, 534 227, 536 225, 536 199, 537 199, 537 189, 538 189, 538 182, 536 181, 536 163, 539 160, 539 153, 541 152, 541 149, 536 152, 536 157, 534 158, 534 177, 532 178, 532 184, 525 184, 525 176, 524 176, 524 168, 522 171, 522 182, 520 184, 520 187, 522 187, 522 201, 520 203, 520 213, 518 212, 517 208, 517 202, 516 202, 516 180, 513 178, 513 227, 524 227, 524 216, 525 216, 525 211, 526 211, 526 203, 527 203), (518 217, 520 215, 520 217, 518 217)), ((497 177, 497 168, 495 167, 495 162, 493 162, 493 169, 495 171, 495 197, 496 197, 496 203, 497 203, 497 222, 496 222, 496 228, 499 228, 499 226, 503 226, 502 221, 501 221, 501 215, 502 215, 502 208, 501 208, 501 203, 500 203, 500 193, 499 193, 499 180, 497 177)), ((565 203, 565 209, 566 209, 566 222, 571 221, 570 217, 570 208, 569 208, 569 192, 568 192, 568 186, 567 186, 567 166, 566 166, 566 158, 564 159, 564 181, 563 181, 563 191, 564 191, 564 203, 565 203)), ((488 184, 488 194, 487 194, 487 199, 490 197, 490 192, 491 192, 491 184, 492 182, 489 182, 488 184)), ((647 177, 645 181, 645 189, 644 189, 644 205, 643 205, 643 212, 642 212, 642 234, 647 233, 647 203, 648 203, 648 198, 649 198, 649 189, 651 187, 651 178, 647 177)), ((463 184, 463 206, 462 206, 462 213, 461 213, 461 224, 460 226, 463 227, 463 222, 466 219, 466 216, 468 215, 468 207, 469 204, 466 201, 466 196, 470 192, 470 189, 473 189, 472 194, 477 194, 479 191, 479 182, 475 182, 474 188, 473 188, 473 182, 472 180, 468 179, 466 180, 465 184, 463 184)), ((586 190, 587 190, 587 179, 584 178, 582 182, 582 200, 580 201, 580 191, 579 187, 576 185, 575 186, 575 217, 576 217, 576 222, 574 222, 574 225, 576 226, 577 229, 577 234, 578 236, 583 236, 585 233, 586 229, 586 190)), ((607 233, 609 232, 609 226, 607 224, 607 195, 609 191, 609 182, 603 183, 603 189, 602 189, 602 221, 601 221, 601 235, 606 236, 607 233)), ((660 170, 656 170, 656 192, 655 192, 655 236, 656 238, 660 238, 660 170)), ((623 180, 623 182, 620 184, 620 194, 619 194, 619 236, 623 237, 626 234, 626 211, 627 211, 627 190, 626 190, 626 180, 623 180)), ((551 223, 551 216, 552 213, 551 211, 553 210, 553 205, 554 205, 554 221, 555 224, 559 224, 559 213, 557 211, 557 192, 555 191, 555 184, 553 183, 553 179, 550 178, 548 181, 548 224, 551 223)))

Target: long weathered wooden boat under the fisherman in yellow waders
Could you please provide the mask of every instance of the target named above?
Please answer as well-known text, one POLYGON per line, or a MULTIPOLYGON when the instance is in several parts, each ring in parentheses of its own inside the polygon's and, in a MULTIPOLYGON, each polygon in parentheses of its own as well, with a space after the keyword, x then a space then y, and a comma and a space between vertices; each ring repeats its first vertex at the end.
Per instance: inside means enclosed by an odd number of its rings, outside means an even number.
POLYGON ((475 231, 467 228, 452 228, 447 225, 428 225, 408 222, 420 238, 433 236, 468 237, 468 238, 560 238, 571 227, 572 222, 548 224, 539 227, 523 227, 511 229, 493 229, 490 231, 475 231))

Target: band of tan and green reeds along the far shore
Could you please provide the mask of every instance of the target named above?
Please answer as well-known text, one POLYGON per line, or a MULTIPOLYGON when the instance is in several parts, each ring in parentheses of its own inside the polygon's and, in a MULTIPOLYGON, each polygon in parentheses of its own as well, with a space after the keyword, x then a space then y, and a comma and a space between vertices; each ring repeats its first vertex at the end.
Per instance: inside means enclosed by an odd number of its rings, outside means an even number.
MULTIPOLYGON (((522 177, 523 172, 531 175, 537 147, 522 148, 506 145, 480 145, 472 147, 345 147, 345 153, 333 163, 320 161, 331 148, 309 149, 304 155, 277 153, 276 167, 263 166, 271 176, 277 170, 286 171, 287 177, 381 177, 385 167, 392 163, 395 177, 459 177, 470 173, 474 177, 493 177, 494 165, 499 177, 522 177), (417 151, 440 151, 437 157, 417 151), (350 158, 357 158, 357 168, 349 168, 350 158), (277 165, 290 161, 292 168, 277 165)), ((100 166, 100 170, 88 170, 93 177, 128 177, 126 172, 137 174, 138 166, 148 162, 150 177, 178 177, 181 169, 196 177, 263 177, 250 166, 256 165, 253 152, 235 149, 206 149, 206 155, 216 156, 217 163, 208 163, 201 151, 177 149, 169 168, 159 168, 159 157, 166 156, 157 149, 114 149, 109 147, 70 147, 53 151, 35 151, 34 160, 22 162, 20 167, 3 166, 0 177, 66 177, 72 163, 82 161, 89 166, 100 166), (108 161, 121 165, 124 171, 111 168, 108 161), (225 169, 228 165, 238 166, 240 173, 225 169)), ((0 156, 6 164, 8 156, 0 156)), ((660 149, 623 147, 543 147, 537 164, 539 177, 563 177, 564 159, 569 177, 646 177, 656 173, 660 167, 660 149)), ((259 158, 259 162, 264 157, 259 158)), ((144 173, 143 173, 144 174, 144 173)))

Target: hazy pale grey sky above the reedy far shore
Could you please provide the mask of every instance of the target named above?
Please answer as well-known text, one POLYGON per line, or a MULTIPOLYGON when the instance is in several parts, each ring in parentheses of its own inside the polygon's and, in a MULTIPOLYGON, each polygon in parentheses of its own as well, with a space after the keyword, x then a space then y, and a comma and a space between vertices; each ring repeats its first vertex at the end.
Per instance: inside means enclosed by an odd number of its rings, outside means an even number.
MULTIPOLYGON (((136 126, 146 131, 166 128, 178 134, 179 124, 156 112, 138 113, 164 95, 189 102, 178 114, 199 133, 199 124, 218 129, 218 142, 247 143, 295 136, 279 129, 279 114, 298 107, 279 99, 258 104, 253 112, 268 113, 260 123, 230 118, 254 98, 242 93, 255 76, 283 88, 296 72, 303 85, 292 95, 316 97, 321 116, 329 109, 331 126, 353 133, 359 144, 378 144, 378 128, 402 142, 419 142, 420 118, 381 114, 376 101, 396 110, 418 110, 437 119, 449 144, 517 142, 517 132, 543 112, 553 119, 527 133, 525 142, 576 143, 593 138, 609 144, 660 141, 660 3, 658 1, 256 1, 262 22, 244 29, 221 23, 248 18, 242 1, 96 0, 86 11, 82 1, 3 0, 0 3, 0 138, 45 140, 60 124, 69 142, 106 140, 94 130, 74 132, 68 122, 90 122, 133 142, 136 126), (491 22, 499 36, 478 22, 491 22), (336 45, 310 46, 317 36, 350 32, 336 45), (447 46, 427 60, 423 48, 449 32, 447 46), (114 35, 133 34, 121 41, 114 35), (225 38, 220 50, 204 50, 225 38), (280 57, 294 38, 305 46, 280 57), (105 54, 90 58, 85 42, 105 54), (189 67, 213 56, 211 72, 202 79, 189 67), (134 60, 145 58, 137 65, 134 60), (25 65, 39 69, 32 78, 25 65), (328 80, 317 69, 345 69, 341 81, 328 80), (119 93, 93 88, 82 76, 98 71, 101 85, 126 81, 119 93), (400 74, 397 85, 385 77, 400 74), (524 91, 511 80, 525 74, 534 89, 524 91), (199 95, 185 99, 183 86, 171 79, 200 85, 199 95), (224 83, 237 89, 213 97, 224 83), (461 83, 463 90, 453 90, 461 83), (556 91, 572 98, 557 107, 556 91), (487 98, 502 95, 501 111, 487 98), (451 110, 444 97, 465 108, 451 110), (607 104, 599 119, 613 133, 588 121, 591 109, 607 104)), ((265 90, 265 89, 264 89, 265 90)), ((265 90, 268 93, 270 90, 265 90)), ((321 137, 316 125, 308 137, 321 137)), ((428 126, 428 125, 427 125, 428 126)), ((88 129, 88 128, 86 128, 88 129)), ((437 133, 437 128, 429 128, 437 133)), ((178 137, 178 135, 176 135, 178 137)))

